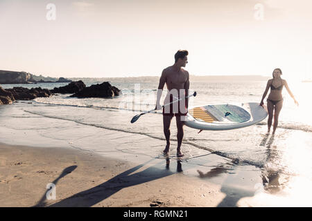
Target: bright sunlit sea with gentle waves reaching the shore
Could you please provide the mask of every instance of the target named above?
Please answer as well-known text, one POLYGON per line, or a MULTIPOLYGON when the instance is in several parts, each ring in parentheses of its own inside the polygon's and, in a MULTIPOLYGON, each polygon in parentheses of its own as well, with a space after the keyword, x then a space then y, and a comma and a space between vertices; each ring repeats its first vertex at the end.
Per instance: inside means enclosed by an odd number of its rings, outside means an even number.
MULTIPOLYGON (((101 84, 98 79, 83 79, 86 86, 101 84)), ((24 117, 38 116, 50 119, 64 119, 94 128, 105 128, 110 131, 123 131, 128 134, 145 135, 164 142, 161 111, 141 116, 134 124, 130 123, 133 116, 155 108, 158 80, 144 79, 140 81, 128 78, 114 78, 112 86, 121 90, 121 95, 112 98, 85 98, 69 97, 68 94, 56 94, 52 97, 40 97, 32 101, 19 101, 13 106, 23 111, 24 117)), ((52 89, 65 86, 68 83, 46 84, 3 84, 3 88, 23 86, 26 88, 42 87, 52 89)), ((199 131, 184 126, 182 152, 186 153, 183 160, 191 160, 213 153, 220 157, 232 160, 237 164, 252 165, 263 171, 263 180, 277 177, 277 186, 287 186, 289 176, 304 177, 312 180, 312 83, 288 82, 288 86, 295 95, 299 106, 296 106, 283 89, 284 104, 279 115, 279 126, 275 135, 268 135, 267 118, 259 124, 229 131, 199 131)), ((189 106, 207 104, 241 104, 260 102, 266 81, 251 80, 223 80, 191 81, 190 93, 196 91, 196 97, 191 97, 189 106)), ((166 95, 166 86, 161 101, 166 95)), ((265 102, 266 104, 266 102, 265 102)), ((8 115, 0 108, 1 115, 8 115)), ((20 116, 22 117, 22 116, 20 116)), ((40 118, 38 118, 40 119, 40 118)), ((3 124, 3 122, 1 123, 3 124)), ((7 124, 7 126, 10 126, 7 124)), ((42 125, 40 126, 42 127, 42 125)), ((36 126, 29 126, 30 130, 39 130, 36 126)), ((63 139, 58 128, 55 133, 46 133, 51 139, 63 139)), ((272 128, 271 128, 272 132, 272 128)), ((64 133, 67 133, 64 131, 64 133)), ((175 119, 171 122, 171 140, 176 141, 175 119)), ((68 133, 71 135, 71 133, 68 133)), ((101 136, 101 134, 98 134, 101 136)), ((1 142, 1 137, 0 137, 1 142)), ((92 141, 90 141, 92 143, 92 141)), ((77 148, 85 148, 85 144, 73 141, 77 148)), ((90 144, 91 145, 91 144, 90 144)), ((103 146, 93 146, 94 149, 103 149, 103 146)), ((128 153, 159 157, 159 149, 153 150, 153 144, 146 143, 144 148, 129 147, 128 153), (148 149, 148 151, 146 151, 148 149)), ((274 186, 274 185, 273 185, 274 186)))

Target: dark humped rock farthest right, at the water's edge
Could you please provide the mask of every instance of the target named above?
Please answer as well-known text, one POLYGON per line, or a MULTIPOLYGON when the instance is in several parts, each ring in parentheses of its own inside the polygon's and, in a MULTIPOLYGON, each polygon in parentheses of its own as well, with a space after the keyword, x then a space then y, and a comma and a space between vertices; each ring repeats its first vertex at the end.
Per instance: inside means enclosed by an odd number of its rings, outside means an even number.
POLYGON ((71 97, 115 97, 119 96, 119 93, 121 91, 118 88, 105 81, 102 84, 94 84, 84 88, 78 93, 71 95, 71 97))

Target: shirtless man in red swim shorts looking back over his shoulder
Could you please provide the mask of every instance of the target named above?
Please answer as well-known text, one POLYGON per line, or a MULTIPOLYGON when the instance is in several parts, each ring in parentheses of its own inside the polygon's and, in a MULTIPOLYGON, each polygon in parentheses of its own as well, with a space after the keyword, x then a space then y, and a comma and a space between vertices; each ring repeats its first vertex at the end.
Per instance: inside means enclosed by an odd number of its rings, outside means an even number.
MULTIPOLYGON (((175 53, 175 64, 169 66, 162 71, 162 77, 159 79, 159 86, 157 90, 156 110, 162 109, 160 105, 160 98, 162 97, 162 90, 164 84, 168 88, 168 93, 164 99, 164 105, 173 102, 175 99, 187 97, 189 95, 189 73, 181 67, 187 64, 187 50, 178 50, 175 53)), ((164 154, 168 154, 170 147, 170 124, 171 119, 175 116, 177 124, 177 157, 182 157, 181 144, 183 139, 183 116, 187 115, 187 108, 189 107, 189 99, 182 99, 181 102, 166 106, 163 109, 164 135, 166 137, 166 148, 164 154)))

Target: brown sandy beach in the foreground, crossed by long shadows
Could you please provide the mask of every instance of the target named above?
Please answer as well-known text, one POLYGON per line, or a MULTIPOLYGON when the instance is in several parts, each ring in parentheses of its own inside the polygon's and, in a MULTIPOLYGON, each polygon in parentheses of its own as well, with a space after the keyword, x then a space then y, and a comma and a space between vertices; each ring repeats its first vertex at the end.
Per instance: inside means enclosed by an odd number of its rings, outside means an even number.
POLYGON ((0 144, 0 206, 217 206, 216 184, 66 148, 0 144), (46 199, 46 185, 56 199, 46 199))

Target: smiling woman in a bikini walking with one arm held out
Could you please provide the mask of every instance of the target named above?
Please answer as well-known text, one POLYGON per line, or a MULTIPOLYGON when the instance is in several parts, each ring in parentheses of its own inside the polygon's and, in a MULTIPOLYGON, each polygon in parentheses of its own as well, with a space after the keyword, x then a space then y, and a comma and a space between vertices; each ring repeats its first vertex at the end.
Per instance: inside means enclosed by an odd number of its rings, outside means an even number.
POLYGON ((273 79, 268 80, 268 84, 266 85, 266 91, 264 91, 260 105, 263 106, 263 99, 266 98, 269 88, 271 88, 270 95, 268 95, 267 106, 268 106, 268 133, 270 133, 270 128, 272 125, 272 119, 274 117, 273 124, 273 135, 275 134, 277 124, 279 122, 279 112, 281 111, 281 107, 283 106, 283 97, 281 96, 281 90, 283 90, 283 86, 287 89, 289 95, 293 97, 295 104, 299 105, 293 93, 288 88, 288 84, 286 80, 281 79, 281 69, 276 68, 273 71, 273 79), (274 114, 273 114, 274 113, 274 114))

